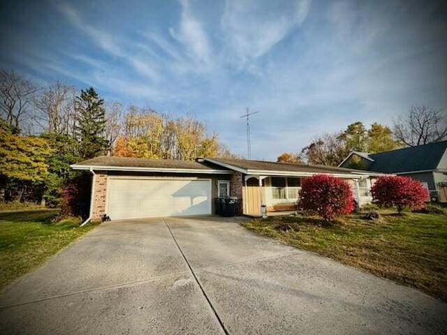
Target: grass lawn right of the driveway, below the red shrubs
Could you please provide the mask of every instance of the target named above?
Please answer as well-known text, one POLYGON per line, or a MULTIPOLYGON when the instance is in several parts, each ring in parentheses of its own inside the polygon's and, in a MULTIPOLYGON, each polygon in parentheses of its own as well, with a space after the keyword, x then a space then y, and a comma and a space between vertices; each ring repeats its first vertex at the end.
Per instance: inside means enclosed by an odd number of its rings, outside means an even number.
POLYGON ((331 225, 312 216, 253 219, 244 227, 447 300, 447 216, 381 210, 331 225))

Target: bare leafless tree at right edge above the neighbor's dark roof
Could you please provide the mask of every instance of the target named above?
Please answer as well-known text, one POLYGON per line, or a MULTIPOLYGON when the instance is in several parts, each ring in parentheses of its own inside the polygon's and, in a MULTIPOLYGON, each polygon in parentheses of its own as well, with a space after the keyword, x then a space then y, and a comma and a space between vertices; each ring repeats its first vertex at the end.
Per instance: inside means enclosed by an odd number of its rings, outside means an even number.
POLYGON ((447 139, 447 112, 426 106, 413 106, 406 117, 394 121, 397 140, 414 147, 447 139))

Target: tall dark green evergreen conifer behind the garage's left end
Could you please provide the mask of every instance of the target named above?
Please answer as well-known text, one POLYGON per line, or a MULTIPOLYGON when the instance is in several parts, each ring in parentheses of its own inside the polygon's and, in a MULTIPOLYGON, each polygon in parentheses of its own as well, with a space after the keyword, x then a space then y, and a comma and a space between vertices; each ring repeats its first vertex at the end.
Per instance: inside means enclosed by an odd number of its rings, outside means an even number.
POLYGON ((75 107, 79 115, 76 137, 80 144, 80 156, 89 159, 106 154, 109 144, 105 138, 104 100, 90 87, 81 90, 75 107))

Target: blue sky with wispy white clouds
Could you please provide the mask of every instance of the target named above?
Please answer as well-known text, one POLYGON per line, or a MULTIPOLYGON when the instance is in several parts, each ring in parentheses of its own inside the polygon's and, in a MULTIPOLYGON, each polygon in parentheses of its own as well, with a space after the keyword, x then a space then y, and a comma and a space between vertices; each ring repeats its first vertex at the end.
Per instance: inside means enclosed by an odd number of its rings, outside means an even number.
POLYGON ((444 1, 2 1, 0 67, 192 114, 237 154, 447 107, 444 1))

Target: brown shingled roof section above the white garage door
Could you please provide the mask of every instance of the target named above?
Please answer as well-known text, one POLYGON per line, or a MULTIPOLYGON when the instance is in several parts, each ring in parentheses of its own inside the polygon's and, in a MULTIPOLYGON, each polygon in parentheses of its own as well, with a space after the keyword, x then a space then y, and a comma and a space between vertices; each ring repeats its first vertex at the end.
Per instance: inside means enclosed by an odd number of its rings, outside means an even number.
MULTIPOLYGON (((99 156, 75 165, 113 166, 121 168, 169 168, 215 170, 212 165, 196 161, 177 161, 173 159, 133 158, 118 156, 99 156)), ((219 170, 226 170, 219 168, 219 170)))

